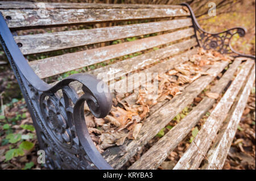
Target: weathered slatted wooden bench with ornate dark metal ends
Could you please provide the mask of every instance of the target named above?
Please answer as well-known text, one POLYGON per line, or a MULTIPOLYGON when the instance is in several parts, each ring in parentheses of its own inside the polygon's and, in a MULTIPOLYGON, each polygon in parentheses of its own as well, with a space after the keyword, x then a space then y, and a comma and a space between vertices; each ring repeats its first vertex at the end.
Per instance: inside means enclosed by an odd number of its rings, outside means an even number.
MULTIPOLYGON (((230 46, 233 35, 245 35, 244 28, 205 32, 187 4, 0 2, 0 12, 1 44, 31 113, 40 149, 46 151, 48 169, 121 169, 216 77, 210 92, 224 94, 174 169, 198 169, 203 160, 201 169, 222 169, 255 79, 255 56, 230 46), (35 33, 20 34, 26 30, 35 33), (114 44, 131 37, 137 39, 114 44), (122 92, 128 73, 165 73, 188 61, 199 47, 236 58, 230 64, 218 61, 209 66, 208 75, 187 84, 181 94, 150 107, 135 140, 126 139, 100 154, 85 124, 84 102, 94 116, 105 117, 112 108, 112 94, 97 91, 101 81, 93 75, 115 73, 116 81, 105 83, 114 85, 114 90, 121 87, 115 93, 122 92), (142 54, 127 56, 137 52, 142 54), (42 58, 31 61, 33 54, 42 58), (88 74, 72 74, 52 84, 42 80, 123 56, 125 60, 90 69, 88 74), (119 77, 123 78, 117 81, 119 77), (84 94, 79 98, 76 91, 84 94)), ((135 82, 129 91, 150 81, 135 82)), ((121 102, 135 104, 137 94, 121 102)), ((216 99, 205 96, 129 169, 158 168, 214 103, 216 99)))

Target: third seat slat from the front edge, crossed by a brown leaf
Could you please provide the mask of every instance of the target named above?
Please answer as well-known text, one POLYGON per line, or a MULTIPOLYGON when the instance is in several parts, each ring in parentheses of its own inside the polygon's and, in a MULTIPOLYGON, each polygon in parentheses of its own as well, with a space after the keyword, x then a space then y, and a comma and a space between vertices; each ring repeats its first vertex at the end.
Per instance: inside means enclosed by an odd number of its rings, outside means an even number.
MULTIPOLYGON (((233 78, 233 74, 241 64, 241 60, 234 60, 230 68, 225 72, 221 79, 214 85, 210 91, 220 94, 233 78)), ((154 146, 142 155, 129 169, 157 169, 158 166, 168 157, 172 150, 176 148, 180 141, 191 131, 198 121, 216 102, 215 99, 207 96, 189 114, 178 124, 167 132, 154 146)))

